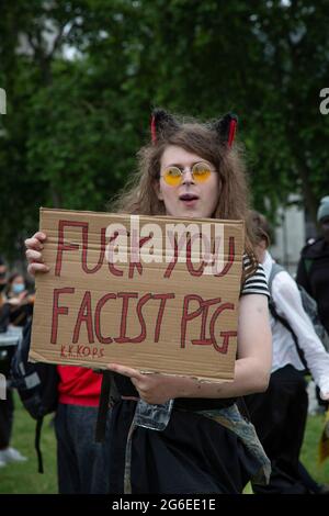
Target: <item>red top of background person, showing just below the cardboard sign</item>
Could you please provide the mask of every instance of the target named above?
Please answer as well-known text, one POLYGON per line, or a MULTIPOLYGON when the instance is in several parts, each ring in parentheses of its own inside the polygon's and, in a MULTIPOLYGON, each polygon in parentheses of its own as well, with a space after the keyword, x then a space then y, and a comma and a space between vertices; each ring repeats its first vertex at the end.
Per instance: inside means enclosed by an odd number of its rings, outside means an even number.
POLYGON ((98 406, 102 374, 77 366, 57 366, 59 374, 59 403, 66 405, 98 406))

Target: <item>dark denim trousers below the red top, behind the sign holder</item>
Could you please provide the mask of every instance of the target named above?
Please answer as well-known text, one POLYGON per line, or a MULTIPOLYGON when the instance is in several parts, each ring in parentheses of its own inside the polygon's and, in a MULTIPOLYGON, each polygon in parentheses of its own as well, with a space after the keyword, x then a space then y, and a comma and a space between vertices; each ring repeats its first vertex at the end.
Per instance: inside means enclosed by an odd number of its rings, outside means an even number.
POLYGON ((59 404, 57 437, 58 491, 63 494, 109 493, 109 425, 105 441, 94 441, 98 407, 59 404))

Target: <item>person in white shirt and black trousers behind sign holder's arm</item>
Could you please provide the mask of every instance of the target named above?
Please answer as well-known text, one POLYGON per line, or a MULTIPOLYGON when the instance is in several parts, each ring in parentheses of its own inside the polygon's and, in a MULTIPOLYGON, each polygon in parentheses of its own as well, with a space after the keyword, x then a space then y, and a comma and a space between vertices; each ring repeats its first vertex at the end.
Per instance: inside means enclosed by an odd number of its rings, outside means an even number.
POLYGON ((294 279, 283 268, 273 274, 275 266, 268 251, 270 227, 265 217, 257 212, 251 212, 250 217, 258 242, 258 258, 274 303, 271 309, 273 362, 270 385, 266 392, 245 399, 272 462, 270 483, 253 485, 253 490, 261 494, 321 493, 326 486, 318 485, 309 476, 299 463, 299 455, 308 407, 305 364, 319 386, 321 397, 329 400, 329 354, 303 309, 294 279))

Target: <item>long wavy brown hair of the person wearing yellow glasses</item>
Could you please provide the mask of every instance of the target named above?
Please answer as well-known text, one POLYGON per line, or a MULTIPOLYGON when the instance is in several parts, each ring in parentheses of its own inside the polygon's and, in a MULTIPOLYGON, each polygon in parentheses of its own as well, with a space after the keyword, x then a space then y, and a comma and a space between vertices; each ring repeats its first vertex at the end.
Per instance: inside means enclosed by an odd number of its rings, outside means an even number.
POLYGON ((182 123, 175 131, 161 134, 156 143, 149 143, 138 152, 138 171, 125 188, 111 201, 111 212, 140 215, 164 215, 163 201, 159 200, 156 183, 159 181, 161 157, 164 149, 174 145, 197 154, 212 162, 219 173, 218 202, 213 218, 242 220, 246 223, 245 250, 251 260, 247 276, 258 265, 253 251, 253 238, 248 218, 249 191, 246 179, 243 148, 235 143, 231 148, 218 139, 211 123, 182 123))

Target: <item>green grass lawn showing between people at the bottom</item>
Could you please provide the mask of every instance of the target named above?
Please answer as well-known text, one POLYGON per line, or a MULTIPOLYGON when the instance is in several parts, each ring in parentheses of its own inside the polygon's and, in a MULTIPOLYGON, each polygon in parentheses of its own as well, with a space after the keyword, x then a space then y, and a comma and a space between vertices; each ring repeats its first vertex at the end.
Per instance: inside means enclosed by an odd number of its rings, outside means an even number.
MULTIPOLYGON (((39 474, 34 450, 35 422, 24 411, 19 397, 15 396, 14 429, 11 445, 26 456, 29 461, 10 463, 0 469, 0 493, 57 492, 56 442, 50 422, 52 416, 47 416, 44 420, 41 447, 45 473, 39 474)), ((317 462, 322 422, 322 415, 308 417, 302 461, 318 482, 329 483, 329 459, 325 461, 322 467, 319 467, 317 462)), ((249 489, 247 489, 248 491, 249 489)))

